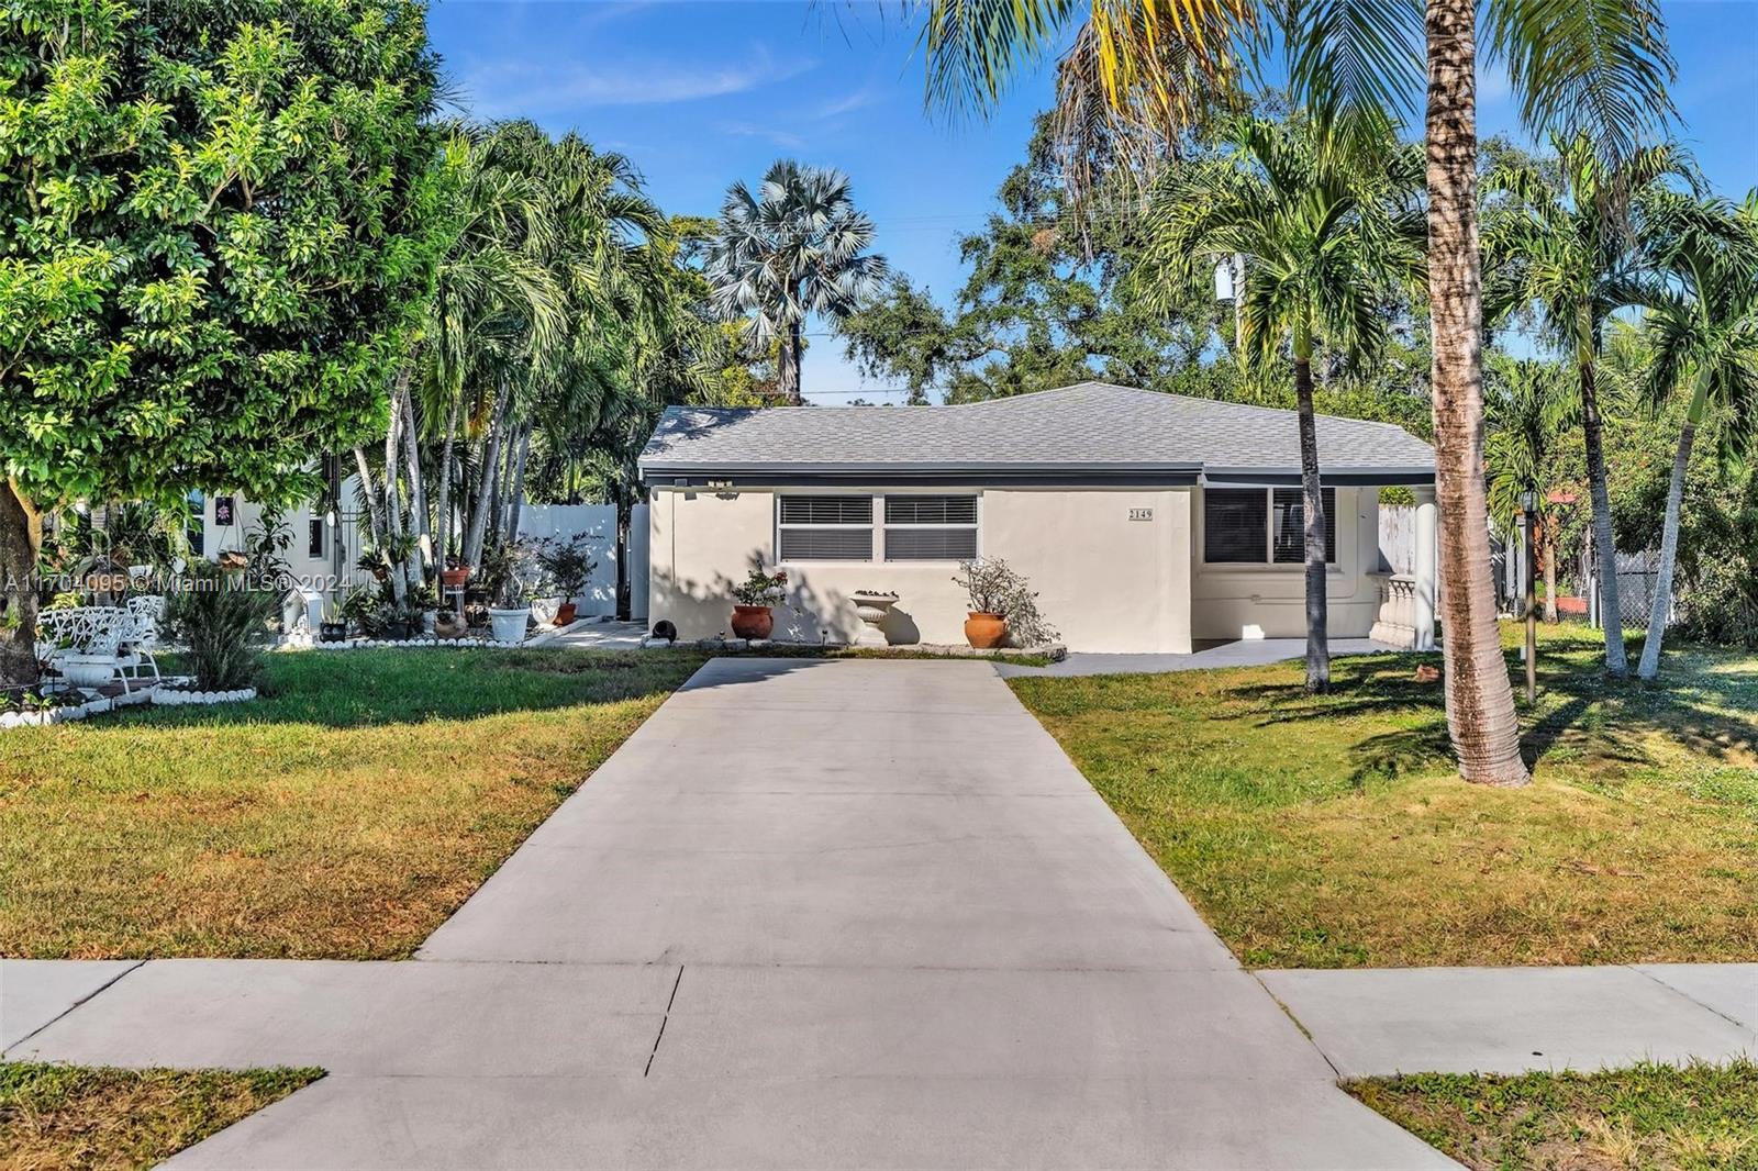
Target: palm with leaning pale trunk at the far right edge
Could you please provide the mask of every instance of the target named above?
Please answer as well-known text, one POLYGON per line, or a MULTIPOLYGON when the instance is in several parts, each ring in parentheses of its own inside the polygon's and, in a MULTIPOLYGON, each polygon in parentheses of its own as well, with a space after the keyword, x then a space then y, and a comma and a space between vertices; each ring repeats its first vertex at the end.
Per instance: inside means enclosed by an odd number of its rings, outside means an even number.
POLYGON ((1653 362, 1644 392, 1651 403, 1684 390, 1691 399, 1667 489, 1654 603, 1637 666, 1640 679, 1660 673, 1684 473, 1698 429, 1711 413, 1721 417, 1725 461, 1744 459, 1758 447, 1758 188, 1739 207, 1721 199, 1668 199, 1653 232, 1668 287, 1647 316, 1653 362))

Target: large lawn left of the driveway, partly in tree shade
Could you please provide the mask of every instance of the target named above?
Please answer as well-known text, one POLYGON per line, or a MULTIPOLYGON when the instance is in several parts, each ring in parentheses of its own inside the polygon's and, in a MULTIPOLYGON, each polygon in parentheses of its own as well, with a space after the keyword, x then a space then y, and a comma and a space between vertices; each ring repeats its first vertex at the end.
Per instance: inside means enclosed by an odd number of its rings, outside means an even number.
POLYGON ((701 663, 269 656, 269 698, 14 730, 0 955, 410 955, 701 663))

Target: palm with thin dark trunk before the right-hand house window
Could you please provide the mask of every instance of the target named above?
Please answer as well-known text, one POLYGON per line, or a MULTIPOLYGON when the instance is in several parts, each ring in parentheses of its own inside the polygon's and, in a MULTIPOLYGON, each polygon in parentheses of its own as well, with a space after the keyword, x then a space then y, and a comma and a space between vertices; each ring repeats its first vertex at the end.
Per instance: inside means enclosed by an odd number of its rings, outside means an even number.
POLYGON ((1413 192, 1420 164, 1385 142, 1375 149, 1327 137, 1310 121, 1232 121, 1231 151, 1194 164, 1151 197, 1146 250, 1136 280, 1155 308, 1208 280, 1217 258, 1245 257, 1239 357, 1271 366, 1287 353, 1301 445, 1301 515, 1306 529, 1306 691, 1331 686, 1326 642, 1326 515, 1313 415, 1313 348, 1324 341, 1368 359, 1387 336, 1385 288, 1413 283, 1420 246, 1413 192))

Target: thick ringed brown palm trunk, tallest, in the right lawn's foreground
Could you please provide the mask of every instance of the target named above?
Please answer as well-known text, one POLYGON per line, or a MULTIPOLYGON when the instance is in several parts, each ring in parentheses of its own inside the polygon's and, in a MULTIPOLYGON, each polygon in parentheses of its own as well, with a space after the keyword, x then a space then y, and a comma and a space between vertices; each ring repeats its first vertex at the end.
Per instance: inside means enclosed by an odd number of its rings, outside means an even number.
POLYGON ((1471 0, 1427 0, 1427 229, 1435 498, 1447 731, 1459 775, 1526 784, 1501 658, 1484 494, 1484 290, 1477 237, 1477 32, 1471 0))

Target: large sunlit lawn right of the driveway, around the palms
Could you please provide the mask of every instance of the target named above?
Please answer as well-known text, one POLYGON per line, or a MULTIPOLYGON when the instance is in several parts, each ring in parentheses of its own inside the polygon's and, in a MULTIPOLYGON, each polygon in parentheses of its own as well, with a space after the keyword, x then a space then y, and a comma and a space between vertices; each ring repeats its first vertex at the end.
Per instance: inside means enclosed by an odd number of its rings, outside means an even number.
POLYGON ((1013 686, 1248 965, 1758 958, 1758 658, 1614 686, 1595 645, 1547 631, 1515 791, 1456 779, 1417 656, 1318 698, 1297 663, 1013 686))

